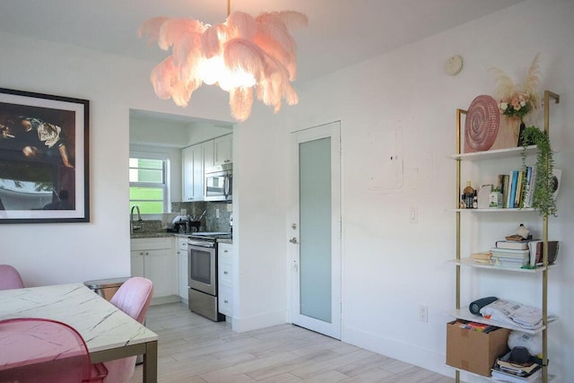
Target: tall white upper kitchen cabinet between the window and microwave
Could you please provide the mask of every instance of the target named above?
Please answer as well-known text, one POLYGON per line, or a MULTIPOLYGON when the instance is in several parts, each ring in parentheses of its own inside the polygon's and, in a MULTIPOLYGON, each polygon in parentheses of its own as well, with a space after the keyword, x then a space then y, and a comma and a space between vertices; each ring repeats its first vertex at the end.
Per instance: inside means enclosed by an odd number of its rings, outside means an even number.
POLYGON ((204 150, 202 144, 181 150, 183 201, 204 200, 204 150))

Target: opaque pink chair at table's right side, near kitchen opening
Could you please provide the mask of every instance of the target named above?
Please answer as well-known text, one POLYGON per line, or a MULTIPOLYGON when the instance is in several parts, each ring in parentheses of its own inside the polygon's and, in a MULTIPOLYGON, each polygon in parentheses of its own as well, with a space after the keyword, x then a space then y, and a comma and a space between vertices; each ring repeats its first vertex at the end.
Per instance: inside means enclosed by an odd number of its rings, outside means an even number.
MULTIPOLYGON (((114 294, 110 302, 127 315, 143 323, 143 318, 150 307, 153 296, 152 281, 135 276, 123 283, 114 294)), ((130 356, 116 361, 106 361, 104 365, 108 370, 108 376, 104 383, 125 383, 135 370, 135 356, 130 356)))

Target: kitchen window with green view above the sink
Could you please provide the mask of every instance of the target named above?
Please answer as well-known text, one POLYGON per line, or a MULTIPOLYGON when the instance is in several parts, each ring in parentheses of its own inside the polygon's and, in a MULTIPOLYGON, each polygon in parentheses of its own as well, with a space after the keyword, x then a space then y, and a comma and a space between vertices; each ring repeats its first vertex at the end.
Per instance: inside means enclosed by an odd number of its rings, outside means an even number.
POLYGON ((129 205, 138 205, 142 214, 161 214, 168 209, 168 161, 129 159, 129 205))

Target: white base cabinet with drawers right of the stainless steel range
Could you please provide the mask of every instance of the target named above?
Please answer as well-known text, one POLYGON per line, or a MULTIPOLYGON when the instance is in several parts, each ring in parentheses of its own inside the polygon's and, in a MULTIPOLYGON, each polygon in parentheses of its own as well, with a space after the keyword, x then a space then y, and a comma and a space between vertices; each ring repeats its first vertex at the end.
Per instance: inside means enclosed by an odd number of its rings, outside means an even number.
POLYGON ((233 316, 233 245, 230 243, 217 244, 217 303, 219 312, 233 316))

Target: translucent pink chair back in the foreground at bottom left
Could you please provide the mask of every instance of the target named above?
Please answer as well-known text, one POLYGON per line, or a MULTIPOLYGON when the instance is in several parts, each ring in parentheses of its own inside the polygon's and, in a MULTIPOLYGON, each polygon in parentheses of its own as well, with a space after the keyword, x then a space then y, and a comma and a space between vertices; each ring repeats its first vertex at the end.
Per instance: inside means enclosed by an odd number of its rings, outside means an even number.
POLYGON ((73 327, 44 318, 0 321, 0 381, 25 383, 103 382, 102 363, 73 327))

